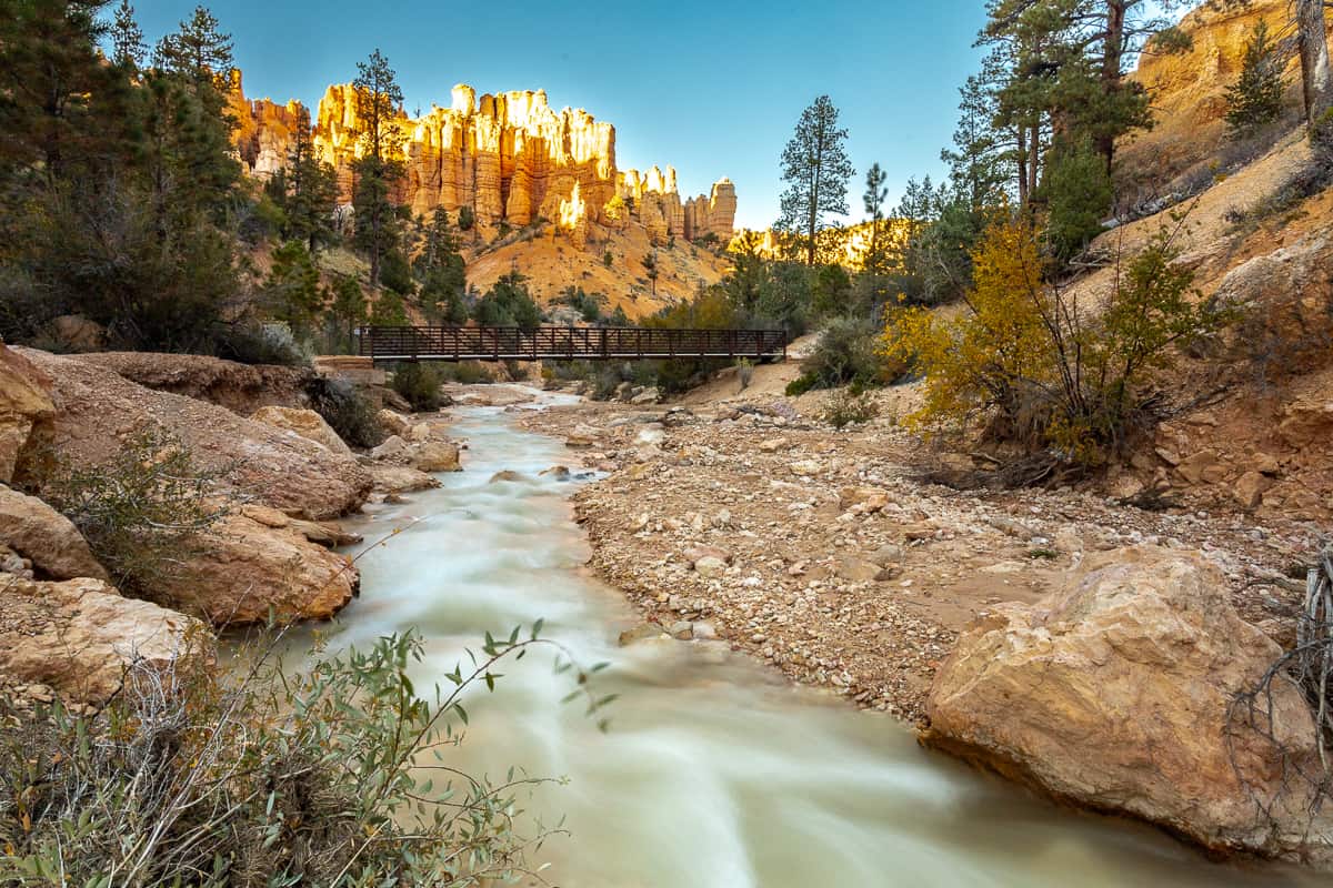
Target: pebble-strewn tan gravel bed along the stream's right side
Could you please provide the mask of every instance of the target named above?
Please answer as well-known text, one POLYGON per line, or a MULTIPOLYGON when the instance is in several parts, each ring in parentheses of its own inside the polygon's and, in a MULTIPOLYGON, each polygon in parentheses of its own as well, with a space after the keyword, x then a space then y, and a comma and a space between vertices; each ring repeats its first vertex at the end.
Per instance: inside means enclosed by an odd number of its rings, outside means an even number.
POLYGON ((1173 509, 1096 490, 953 490, 920 479, 922 445, 890 419, 838 431, 817 398, 692 407, 580 403, 528 415, 572 463, 591 566, 639 634, 720 636, 860 707, 922 722, 958 634, 1033 603, 1086 556, 1149 545, 1216 564, 1237 612, 1286 642, 1317 529, 1173 509))

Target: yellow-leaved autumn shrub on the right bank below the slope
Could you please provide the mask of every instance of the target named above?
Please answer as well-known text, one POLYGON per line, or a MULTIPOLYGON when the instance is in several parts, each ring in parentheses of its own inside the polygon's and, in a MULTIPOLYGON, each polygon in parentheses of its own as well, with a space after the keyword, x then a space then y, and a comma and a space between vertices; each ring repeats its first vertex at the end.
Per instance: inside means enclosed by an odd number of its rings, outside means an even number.
POLYGON ((1145 419, 1145 381, 1176 346, 1208 335, 1230 310, 1194 302, 1194 274, 1178 265, 1174 228, 1164 226, 1121 264, 1100 316, 1042 280, 1037 233, 1026 217, 993 224, 973 254, 966 310, 941 318, 901 308, 886 316, 886 354, 925 373, 925 402, 906 425, 964 425, 985 413, 988 434, 1092 465, 1145 419))

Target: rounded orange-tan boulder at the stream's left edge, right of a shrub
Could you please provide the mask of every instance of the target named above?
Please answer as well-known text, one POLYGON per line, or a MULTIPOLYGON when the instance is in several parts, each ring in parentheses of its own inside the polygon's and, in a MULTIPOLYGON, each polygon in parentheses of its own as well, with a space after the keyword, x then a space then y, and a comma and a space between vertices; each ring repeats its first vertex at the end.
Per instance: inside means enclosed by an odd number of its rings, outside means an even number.
MULTIPOLYGON (((261 515, 263 517, 263 515, 261 515)), ((237 511, 192 545, 183 570, 157 588, 163 600, 213 626, 329 619, 352 600, 360 572, 347 555, 297 526, 273 527, 237 511)))

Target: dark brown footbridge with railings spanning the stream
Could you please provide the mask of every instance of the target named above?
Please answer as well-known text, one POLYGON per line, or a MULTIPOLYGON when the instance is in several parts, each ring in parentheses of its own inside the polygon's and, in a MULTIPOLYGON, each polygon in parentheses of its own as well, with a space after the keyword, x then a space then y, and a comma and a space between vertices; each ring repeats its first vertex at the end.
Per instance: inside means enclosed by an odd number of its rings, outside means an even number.
POLYGON ((357 351, 396 361, 644 361, 673 358, 786 358, 782 330, 668 330, 652 328, 368 326, 357 351))

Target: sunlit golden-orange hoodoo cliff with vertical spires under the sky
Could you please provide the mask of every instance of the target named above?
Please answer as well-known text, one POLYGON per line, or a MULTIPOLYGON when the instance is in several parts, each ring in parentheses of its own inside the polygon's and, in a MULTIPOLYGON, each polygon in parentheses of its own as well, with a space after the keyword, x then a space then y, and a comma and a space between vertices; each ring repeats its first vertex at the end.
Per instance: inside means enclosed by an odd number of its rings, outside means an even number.
MULTIPOLYGON (((247 101, 240 73, 233 79, 237 153, 251 173, 272 174, 305 109, 247 101)), ((352 162, 365 150, 357 137, 363 129, 353 87, 329 87, 315 114, 313 145, 337 170, 344 202, 351 201, 352 162)), ((447 108, 432 105, 417 118, 400 112, 393 129, 393 153, 407 168, 395 198, 415 214, 471 206, 483 225, 528 225, 540 217, 576 237, 585 236, 588 225, 635 220, 655 242, 732 234, 736 188, 729 180, 718 181, 710 196, 682 202, 670 166, 665 173, 656 166, 643 176, 621 173, 616 128, 581 108, 553 109, 545 91, 477 96, 459 84, 447 108), (624 204, 613 204, 615 197, 624 204)))

